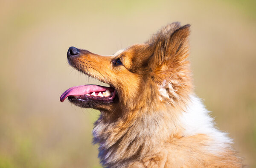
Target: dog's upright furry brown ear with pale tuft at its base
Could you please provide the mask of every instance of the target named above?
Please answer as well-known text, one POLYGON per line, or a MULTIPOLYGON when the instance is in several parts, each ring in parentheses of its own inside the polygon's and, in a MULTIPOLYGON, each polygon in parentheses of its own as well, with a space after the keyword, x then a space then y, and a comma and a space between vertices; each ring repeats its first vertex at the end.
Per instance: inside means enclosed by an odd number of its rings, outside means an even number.
POLYGON ((189 61, 186 59, 189 55, 189 27, 172 23, 148 41, 154 46, 150 62, 160 84, 160 94, 172 104, 186 99, 192 90, 189 61))

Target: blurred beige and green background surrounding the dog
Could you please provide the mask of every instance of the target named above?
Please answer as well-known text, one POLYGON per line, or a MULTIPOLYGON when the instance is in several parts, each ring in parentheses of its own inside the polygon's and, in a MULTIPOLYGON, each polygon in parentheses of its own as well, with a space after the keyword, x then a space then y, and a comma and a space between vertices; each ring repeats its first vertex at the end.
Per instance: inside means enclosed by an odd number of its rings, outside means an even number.
POLYGON ((59 101, 97 83, 67 49, 111 55, 174 21, 192 25, 195 92, 256 167, 255 0, 0 0, 0 168, 99 168, 99 111, 59 101))

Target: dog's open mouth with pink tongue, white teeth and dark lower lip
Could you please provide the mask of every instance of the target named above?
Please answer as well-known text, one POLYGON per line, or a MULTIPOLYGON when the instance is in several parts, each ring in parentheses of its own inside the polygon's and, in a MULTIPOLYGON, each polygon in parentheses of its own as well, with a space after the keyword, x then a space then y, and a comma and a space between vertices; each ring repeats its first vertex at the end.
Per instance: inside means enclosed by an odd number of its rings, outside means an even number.
POLYGON ((96 101, 111 103, 116 99, 116 90, 113 87, 103 87, 99 85, 81 85, 71 87, 62 93, 60 101, 66 98, 73 102, 96 101))

